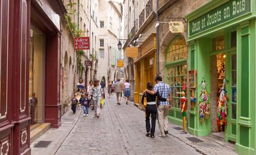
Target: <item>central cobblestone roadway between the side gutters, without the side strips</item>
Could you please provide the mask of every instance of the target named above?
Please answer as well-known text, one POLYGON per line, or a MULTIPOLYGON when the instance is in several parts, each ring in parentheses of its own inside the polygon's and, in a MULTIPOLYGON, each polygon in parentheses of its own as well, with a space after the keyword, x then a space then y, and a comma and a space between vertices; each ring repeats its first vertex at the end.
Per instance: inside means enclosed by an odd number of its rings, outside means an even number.
POLYGON ((106 98, 100 118, 80 114, 77 124, 56 154, 198 154, 194 148, 168 136, 155 139, 145 136, 144 113, 132 103, 116 104, 115 96, 106 98))

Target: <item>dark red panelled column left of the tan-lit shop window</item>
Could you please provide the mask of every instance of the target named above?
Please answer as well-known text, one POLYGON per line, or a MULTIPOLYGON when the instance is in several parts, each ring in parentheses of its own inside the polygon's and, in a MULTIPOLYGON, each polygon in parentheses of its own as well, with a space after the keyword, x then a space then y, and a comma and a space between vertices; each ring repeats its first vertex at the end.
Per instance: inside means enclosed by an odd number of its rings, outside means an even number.
MULTIPOLYGON (((4 2, 4 1, 2 1, 4 2)), ((30 154, 30 117, 28 117, 28 77, 29 77, 29 34, 30 1, 10 1, 14 7, 13 50, 9 50, 8 101, 11 102, 13 136, 9 142, 12 154, 30 154)), ((12 35, 10 35, 12 36, 12 35)), ((2 90, 2 89, 1 89, 2 90)), ((2 152, 1 152, 2 153, 2 152)), ((11 153, 9 153, 11 154, 11 153)))

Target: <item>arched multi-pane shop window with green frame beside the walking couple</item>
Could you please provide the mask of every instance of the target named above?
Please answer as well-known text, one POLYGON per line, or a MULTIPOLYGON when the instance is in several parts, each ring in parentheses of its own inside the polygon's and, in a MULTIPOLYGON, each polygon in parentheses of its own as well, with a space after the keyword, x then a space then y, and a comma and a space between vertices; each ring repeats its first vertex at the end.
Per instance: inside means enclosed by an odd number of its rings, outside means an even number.
POLYGON ((180 94, 182 84, 186 82, 187 78, 187 44, 186 40, 178 36, 166 49, 166 82, 171 86, 173 93, 173 107, 180 108, 181 102, 180 94))

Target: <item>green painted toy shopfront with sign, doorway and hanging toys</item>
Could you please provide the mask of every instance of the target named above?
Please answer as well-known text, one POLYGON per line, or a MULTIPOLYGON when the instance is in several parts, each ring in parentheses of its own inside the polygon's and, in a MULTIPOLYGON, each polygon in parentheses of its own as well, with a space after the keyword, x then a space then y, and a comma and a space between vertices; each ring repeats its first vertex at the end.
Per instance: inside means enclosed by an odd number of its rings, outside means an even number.
MULTIPOLYGON (((210 1, 186 19, 188 49, 179 49, 188 50, 189 59, 177 60, 178 67, 166 64, 167 73, 180 75, 166 79, 181 78, 177 88, 187 82, 188 132, 220 134, 236 144, 238 154, 256 154, 256 1, 210 1)), ((168 50, 176 49, 170 44, 168 50)), ((179 114, 175 105, 169 118, 181 125, 172 117, 179 114)))

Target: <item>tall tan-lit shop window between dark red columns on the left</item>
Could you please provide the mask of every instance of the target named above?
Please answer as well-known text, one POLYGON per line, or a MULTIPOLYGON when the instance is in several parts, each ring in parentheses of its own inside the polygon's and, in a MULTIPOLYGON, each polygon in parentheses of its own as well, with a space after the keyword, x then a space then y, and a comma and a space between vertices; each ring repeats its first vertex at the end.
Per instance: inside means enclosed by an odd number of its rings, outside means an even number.
POLYGON ((30 29, 29 114, 32 129, 43 122, 43 75, 45 36, 30 29))

